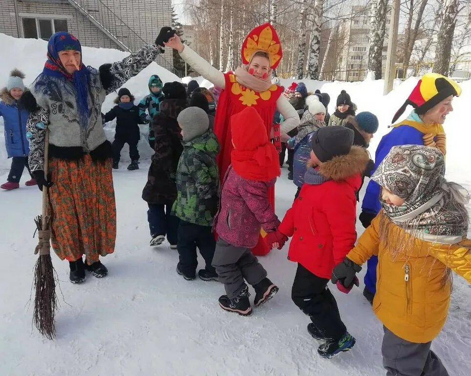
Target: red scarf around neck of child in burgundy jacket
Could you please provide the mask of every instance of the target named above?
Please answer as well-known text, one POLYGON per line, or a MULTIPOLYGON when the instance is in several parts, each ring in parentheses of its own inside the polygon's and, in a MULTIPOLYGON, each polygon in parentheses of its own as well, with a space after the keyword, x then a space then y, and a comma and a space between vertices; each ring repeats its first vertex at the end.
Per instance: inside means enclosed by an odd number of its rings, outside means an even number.
POLYGON ((278 152, 271 142, 256 150, 233 149, 231 163, 236 173, 247 180, 269 182, 280 175, 278 152))

